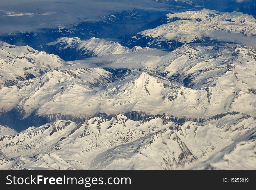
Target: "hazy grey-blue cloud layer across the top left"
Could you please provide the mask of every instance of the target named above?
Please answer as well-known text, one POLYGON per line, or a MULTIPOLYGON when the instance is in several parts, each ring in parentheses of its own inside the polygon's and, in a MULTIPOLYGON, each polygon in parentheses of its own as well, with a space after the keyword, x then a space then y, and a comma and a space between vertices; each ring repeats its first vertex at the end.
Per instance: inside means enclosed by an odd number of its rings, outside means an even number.
POLYGON ((103 15, 125 10, 166 10, 171 5, 148 0, 8 0, 1 2, 0 33, 36 31, 56 28, 82 21, 97 21, 103 15))

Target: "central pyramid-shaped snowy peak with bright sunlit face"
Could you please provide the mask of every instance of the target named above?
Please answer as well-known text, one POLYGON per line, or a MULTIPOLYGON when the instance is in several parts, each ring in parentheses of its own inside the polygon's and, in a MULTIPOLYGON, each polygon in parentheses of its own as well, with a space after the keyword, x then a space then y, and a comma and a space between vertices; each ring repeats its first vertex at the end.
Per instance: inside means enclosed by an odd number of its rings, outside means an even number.
POLYGON ((189 116, 192 112, 197 112, 200 115, 199 112, 202 110, 199 107, 195 108, 199 103, 197 99, 202 96, 204 99, 201 103, 207 104, 204 91, 174 85, 168 79, 145 68, 134 69, 99 94, 104 101, 100 112, 107 114, 115 114, 117 110, 118 113, 142 110, 150 114, 175 112, 176 116, 189 116))

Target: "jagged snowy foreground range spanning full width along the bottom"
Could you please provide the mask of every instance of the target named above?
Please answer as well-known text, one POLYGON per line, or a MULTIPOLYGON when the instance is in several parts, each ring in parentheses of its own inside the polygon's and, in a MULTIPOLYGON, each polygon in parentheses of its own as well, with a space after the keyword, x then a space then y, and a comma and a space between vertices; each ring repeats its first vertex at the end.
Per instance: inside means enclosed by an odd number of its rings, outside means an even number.
POLYGON ((255 119, 58 120, 0 137, 1 169, 255 169, 255 119), (242 162, 241 162, 242 161, 242 162))

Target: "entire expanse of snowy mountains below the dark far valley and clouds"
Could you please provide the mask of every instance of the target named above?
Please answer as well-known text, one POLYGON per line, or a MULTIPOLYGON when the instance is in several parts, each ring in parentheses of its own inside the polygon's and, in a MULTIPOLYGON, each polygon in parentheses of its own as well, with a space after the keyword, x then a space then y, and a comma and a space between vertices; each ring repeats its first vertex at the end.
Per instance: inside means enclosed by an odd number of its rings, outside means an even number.
POLYGON ((155 23, 120 42, 1 41, 0 169, 256 169, 256 19, 155 23))

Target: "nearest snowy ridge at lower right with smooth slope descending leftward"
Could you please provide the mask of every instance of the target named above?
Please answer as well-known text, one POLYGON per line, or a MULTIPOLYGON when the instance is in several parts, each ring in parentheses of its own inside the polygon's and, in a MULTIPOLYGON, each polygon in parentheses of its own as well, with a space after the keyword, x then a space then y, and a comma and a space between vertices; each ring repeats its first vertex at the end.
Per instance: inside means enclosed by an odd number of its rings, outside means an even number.
POLYGON ((218 126, 222 119, 163 127, 100 153, 89 169, 255 169, 255 120, 242 117, 218 126))

